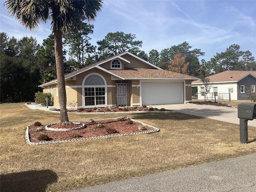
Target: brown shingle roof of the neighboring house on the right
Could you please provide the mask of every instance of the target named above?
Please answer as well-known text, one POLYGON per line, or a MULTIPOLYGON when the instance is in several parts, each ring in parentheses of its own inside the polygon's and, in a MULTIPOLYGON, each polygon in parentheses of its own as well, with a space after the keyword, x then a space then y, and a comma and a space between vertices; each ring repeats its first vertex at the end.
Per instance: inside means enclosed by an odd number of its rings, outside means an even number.
MULTIPOLYGON (((242 79, 243 77, 247 76, 248 74, 252 74, 256 76, 256 71, 224 71, 218 74, 214 74, 209 76, 210 82, 230 82, 242 79)), ((202 83, 201 80, 193 81, 192 84, 202 83)))

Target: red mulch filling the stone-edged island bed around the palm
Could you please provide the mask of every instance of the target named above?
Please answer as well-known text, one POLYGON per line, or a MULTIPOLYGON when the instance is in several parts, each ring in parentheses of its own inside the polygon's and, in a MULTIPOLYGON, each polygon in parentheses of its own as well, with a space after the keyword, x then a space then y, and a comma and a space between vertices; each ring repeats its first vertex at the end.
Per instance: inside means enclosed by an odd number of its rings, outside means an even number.
MULTIPOLYGON (((152 128, 148 126, 144 126, 146 129, 144 130, 138 130, 138 126, 142 125, 138 122, 133 122, 133 124, 127 124, 127 120, 98 120, 94 123, 88 123, 88 122, 81 122, 84 123, 86 126, 84 129, 81 130, 71 130, 71 131, 49 131, 45 129, 46 125, 42 126, 29 126, 29 138, 30 142, 40 142, 37 138, 40 134, 46 134, 50 138, 49 141, 58 141, 58 140, 72 140, 72 139, 81 139, 81 138, 89 138, 89 137, 96 137, 96 136, 106 136, 106 135, 114 135, 114 134, 130 134, 130 133, 137 133, 137 132, 144 132, 148 130, 153 130, 152 128), (96 124, 103 124, 104 127, 102 128, 96 128, 96 124), (36 131, 36 128, 42 128, 41 131, 36 131), (117 132, 114 134, 108 134, 106 133, 106 128, 114 128, 117 132), (78 133, 81 136, 77 138, 73 138, 71 135, 73 133, 78 133)), ((74 128, 79 127, 81 125, 71 124, 71 125, 61 125, 61 124, 55 124, 50 126, 51 128, 74 128)))

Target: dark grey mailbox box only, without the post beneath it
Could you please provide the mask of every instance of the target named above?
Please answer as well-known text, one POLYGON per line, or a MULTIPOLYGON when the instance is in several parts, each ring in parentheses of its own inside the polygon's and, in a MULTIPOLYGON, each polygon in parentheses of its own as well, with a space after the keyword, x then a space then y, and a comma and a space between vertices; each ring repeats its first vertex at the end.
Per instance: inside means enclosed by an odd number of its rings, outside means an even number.
POLYGON ((253 120, 256 119, 256 104, 255 103, 239 103, 238 118, 253 120))

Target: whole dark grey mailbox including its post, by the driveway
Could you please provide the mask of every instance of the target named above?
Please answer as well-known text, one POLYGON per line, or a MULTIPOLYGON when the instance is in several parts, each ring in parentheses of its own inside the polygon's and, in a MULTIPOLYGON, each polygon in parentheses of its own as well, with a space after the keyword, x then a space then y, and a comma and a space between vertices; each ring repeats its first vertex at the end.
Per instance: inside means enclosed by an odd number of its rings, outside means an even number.
POLYGON ((248 120, 256 119, 256 104, 238 104, 238 118, 240 118, 240 142, 248 143, 248 120))

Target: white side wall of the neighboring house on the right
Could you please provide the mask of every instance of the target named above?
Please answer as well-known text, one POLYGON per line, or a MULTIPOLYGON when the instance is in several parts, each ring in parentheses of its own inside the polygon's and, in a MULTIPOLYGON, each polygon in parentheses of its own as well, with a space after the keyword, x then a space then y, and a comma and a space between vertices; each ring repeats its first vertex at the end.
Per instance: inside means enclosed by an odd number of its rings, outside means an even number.
MULTIPOLYGON (((204 84, 192 84, 192 86, 197 87, 198 99, 204 100, 204 95, 201 94, 201 87, 204 87, 204 84)), ((216 96, 216 100, 229 100, 228 88, 233 88, 233 92, 230 91, 230 99, 237 100, 236 82, 212 83, 210 87, 210 93, 206 94, 206 99, 214 100, 214 87, 217 87, 218 95, 216 96)))

